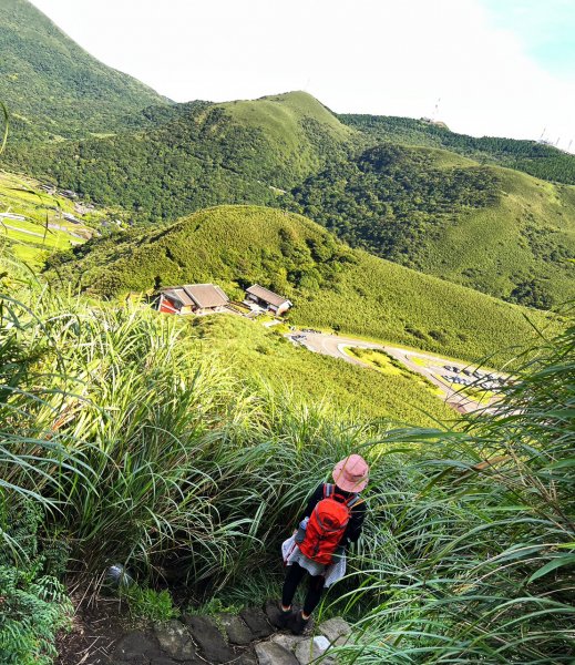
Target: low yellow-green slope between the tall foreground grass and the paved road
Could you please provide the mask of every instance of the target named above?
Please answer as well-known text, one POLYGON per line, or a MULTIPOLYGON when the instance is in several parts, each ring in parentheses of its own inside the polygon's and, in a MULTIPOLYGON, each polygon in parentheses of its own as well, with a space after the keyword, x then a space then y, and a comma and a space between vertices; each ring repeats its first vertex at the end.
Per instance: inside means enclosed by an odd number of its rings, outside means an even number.
POLYGON ((273 392, 286 387, 307 403, 329 405, 337 412, 386 418, 433 427, 454 421, 456 413, 410 372, 381 376, 361 367, 294 347, 281 334, 235 316, 202 317, 192 321, 206 354, 226 358, 228 370, 258 392, 261 382, 273 392))

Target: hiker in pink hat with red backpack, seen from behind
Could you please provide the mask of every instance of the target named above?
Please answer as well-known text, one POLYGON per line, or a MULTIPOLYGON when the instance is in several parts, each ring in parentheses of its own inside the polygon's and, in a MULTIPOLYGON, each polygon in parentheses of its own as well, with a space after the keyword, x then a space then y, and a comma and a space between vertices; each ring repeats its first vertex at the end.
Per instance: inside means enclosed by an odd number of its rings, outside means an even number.
POLYGON ((321 592, 346 574, 346 549, 361 533, 366 503, 359 492, 368 483, 369 467, 350 454, 333 468, 336 484, 321 483, 310 497, 299 529, 281 546, 287 565, 277 626, 300 635, 318 605, 321 592), (304 608, 291 612, 301 580, 309 575, 304 608))

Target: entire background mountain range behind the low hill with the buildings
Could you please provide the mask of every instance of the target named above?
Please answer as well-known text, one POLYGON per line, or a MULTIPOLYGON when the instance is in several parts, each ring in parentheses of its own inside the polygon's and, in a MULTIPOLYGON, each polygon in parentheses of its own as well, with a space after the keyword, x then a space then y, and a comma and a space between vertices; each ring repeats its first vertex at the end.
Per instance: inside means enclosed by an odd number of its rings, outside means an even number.
POLYGON ((17 139, 35 139, 9 144, 13 171, 133 224, 222 204, 287 208, 511 303, 550 309, 575 297, 575 190, 561 184, 575 183, 573 155, 422 120, 337 115, 300 91, 172 104, 24 0, 3 3, 0 19, 0 99, 17 139))

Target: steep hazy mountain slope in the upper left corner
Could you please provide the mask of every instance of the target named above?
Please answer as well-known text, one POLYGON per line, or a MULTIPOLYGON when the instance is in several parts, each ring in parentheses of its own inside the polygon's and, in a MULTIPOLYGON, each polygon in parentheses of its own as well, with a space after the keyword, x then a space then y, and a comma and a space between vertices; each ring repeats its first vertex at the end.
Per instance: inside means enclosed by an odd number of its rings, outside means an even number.
POLYGON ((0 3, 0 100, 13 139, 114 131, 119 120, 166 101, 81 49, 27 0, 0 3))

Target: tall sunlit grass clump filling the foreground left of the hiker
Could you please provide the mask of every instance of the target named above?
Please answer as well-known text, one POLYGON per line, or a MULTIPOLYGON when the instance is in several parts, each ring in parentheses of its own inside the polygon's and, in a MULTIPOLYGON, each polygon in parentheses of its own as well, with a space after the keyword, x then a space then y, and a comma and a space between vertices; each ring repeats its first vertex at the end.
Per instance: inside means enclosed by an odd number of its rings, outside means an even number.
POLYGON ((2 478, 53 507, 47 528, 63 529, 84 570, 233 575, 284 521, 302 449, 343 454, 361 431, 327 405, 249 393, 175 319, 43 289, 8 303, 4 331, 25 351, 7 346, 7 365, 30 362, 6 391, 2 478))

